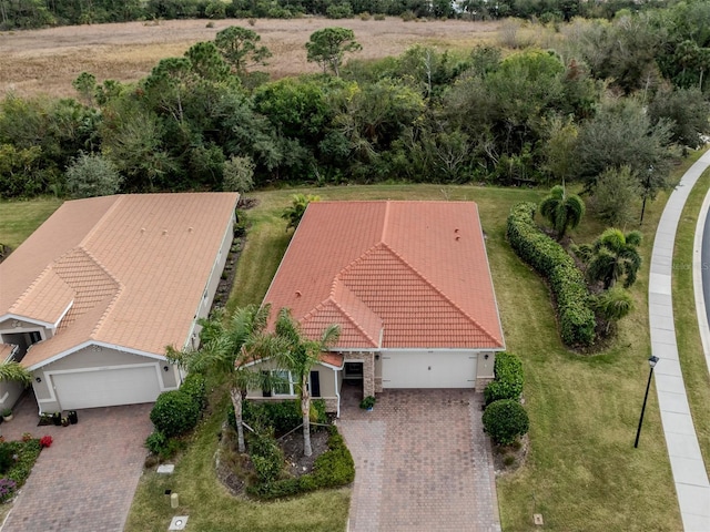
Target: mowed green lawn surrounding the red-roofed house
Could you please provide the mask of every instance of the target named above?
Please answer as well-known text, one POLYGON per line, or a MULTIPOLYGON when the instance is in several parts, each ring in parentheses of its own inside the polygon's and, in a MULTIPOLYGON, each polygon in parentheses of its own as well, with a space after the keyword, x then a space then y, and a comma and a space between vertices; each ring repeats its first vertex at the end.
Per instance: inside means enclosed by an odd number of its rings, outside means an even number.
MULTIPOLYGON (((682 170, 682 168, 681 168, 682 170)), ((679 170, 679 173, 682 171, 679 170)), ((530 448, 526 464, 497 479, 503 528, 534 529, 541 513, 545 530, 680 530, 666 443, 655 390, 649 396, 639 449, 636 424, 648 377, 648 264, 653 231, 667 198, 647 206, 642 227, 645 267, 632 291, 637 310, 620 324, 615 342, 598 355, 568 351, 559 341, 547 287, 513 253, 505 239, 509 208, 539 201, 544 191, 440 185, 374 185, 250 194, 252 227, 237 267, 230 307, 261 301, 283 255, 290 233, 280 215, 294 192, 323 200, 469 200, 478 203, 487 235, 494 284, 508 349, 524 360, 530 448)), ((14 204, 2 204, 0 207, 14 204)), ((588 216, 572 232, 577 243, 595 238, 604 226, 588 216)), ((416 238, 416 235, 413 235, 416 238)), ((0 226, 0 242, 8 239, 0 226)), ((689 386, 696 386, 691 381, 689 386)), ((699 386, 699 385, 698 385, 699 386)), ((349 490, 322 492, 276 503, 234 499, 214 473, 214 452, 226 402, 213 406, 179 460, 172 477, 144 474, 129 516, 128 532, 165 530, 170 509, 164 490, 181 495, 179 513, 190 528, 209 531, 341 531, 349 490)))

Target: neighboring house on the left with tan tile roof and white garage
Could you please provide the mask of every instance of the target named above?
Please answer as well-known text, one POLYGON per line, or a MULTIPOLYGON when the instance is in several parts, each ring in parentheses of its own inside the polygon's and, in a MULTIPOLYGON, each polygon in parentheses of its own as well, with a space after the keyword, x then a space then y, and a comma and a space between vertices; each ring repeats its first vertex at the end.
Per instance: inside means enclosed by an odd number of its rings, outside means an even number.
MULTIPOLYGON (((13 349, 32 372, 40 412, 151 402, 180 386, 165 347, 197 346, 237 198, 67 202, 0 264, 0 357, 13 349)), ((12 406, 19 387, 0 387, 0 406, 12 406)))

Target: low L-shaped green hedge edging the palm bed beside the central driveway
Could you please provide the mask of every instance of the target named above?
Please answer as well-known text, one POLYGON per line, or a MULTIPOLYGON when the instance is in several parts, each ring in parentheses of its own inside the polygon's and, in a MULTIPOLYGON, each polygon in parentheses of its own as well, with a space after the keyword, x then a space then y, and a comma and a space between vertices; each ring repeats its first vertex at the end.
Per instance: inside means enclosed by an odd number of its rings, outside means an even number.
POLYGON ((328 450, 315 460, 313 472, 297 479, 276 480, 246 488, 250 495, 258 499, 280 499, 310 491, 338 488, 355 480, 355 462, 345 440, 333 426, 328 427, 328 450))

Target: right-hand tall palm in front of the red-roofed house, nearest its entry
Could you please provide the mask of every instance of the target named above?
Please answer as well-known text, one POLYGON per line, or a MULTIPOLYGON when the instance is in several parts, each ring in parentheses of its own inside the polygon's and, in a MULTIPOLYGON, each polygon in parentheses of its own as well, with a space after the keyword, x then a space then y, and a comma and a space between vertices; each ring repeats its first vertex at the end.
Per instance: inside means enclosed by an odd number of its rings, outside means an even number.
POLYGON ((311 368, 321 360, 321 352, 333 346, 339 336, 339 326, 331 325, 325 328, 321 338, 311 340, 303 334, 298 323, 292 317, 290 309, 282 308, 278 311, 274 332, 274 347, 278 349, 276 357, 280 364, 291 371, 301 399, 303 453, 306 457, 313 454, 313 449, 311 448, 311 391, 308 390, 308 376, 311 375, 311 368))

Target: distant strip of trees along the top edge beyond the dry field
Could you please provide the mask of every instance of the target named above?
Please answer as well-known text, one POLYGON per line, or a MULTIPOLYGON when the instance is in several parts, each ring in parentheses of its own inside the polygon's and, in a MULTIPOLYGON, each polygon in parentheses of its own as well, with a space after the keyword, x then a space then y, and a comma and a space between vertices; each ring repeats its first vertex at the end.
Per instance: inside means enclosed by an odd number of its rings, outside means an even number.
POLYGON ((303 16, 344 19, 363 13, 469 20, 535 17, 561 21, 572 17, 610 19, 620 10, 638 11, 658 3, 637 0, 0 0, 0 30, 153 19, 303 16))

